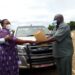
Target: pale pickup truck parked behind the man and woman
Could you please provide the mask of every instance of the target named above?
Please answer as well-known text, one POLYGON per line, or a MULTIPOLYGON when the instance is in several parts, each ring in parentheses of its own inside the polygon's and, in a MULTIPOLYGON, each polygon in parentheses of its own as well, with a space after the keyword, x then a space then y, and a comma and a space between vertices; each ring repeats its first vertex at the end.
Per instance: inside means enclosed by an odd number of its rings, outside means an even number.
MULTIPOLYGON (((19 26, 15 36, 22 40, 36 40, 34 33, 42 30, 46 36, 50 31, 44 26, 19 26)), ((53 57, 53 44, 47 46, 23 44, 17 45, 20 68, 40 68, 53 66, 55 64, 53 57)))

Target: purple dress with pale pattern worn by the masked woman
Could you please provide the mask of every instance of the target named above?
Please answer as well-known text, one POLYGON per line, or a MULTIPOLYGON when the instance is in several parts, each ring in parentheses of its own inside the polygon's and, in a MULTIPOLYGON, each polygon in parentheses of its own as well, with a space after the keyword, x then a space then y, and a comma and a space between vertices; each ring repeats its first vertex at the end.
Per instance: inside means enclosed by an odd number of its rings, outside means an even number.
MULTIPOLYGON (((10 34, 9 30, 0 30, 0 38, 10 34)), ((16 38, 0 44, 0 75, 19 75, 18 52, 16 49, 16 38)))

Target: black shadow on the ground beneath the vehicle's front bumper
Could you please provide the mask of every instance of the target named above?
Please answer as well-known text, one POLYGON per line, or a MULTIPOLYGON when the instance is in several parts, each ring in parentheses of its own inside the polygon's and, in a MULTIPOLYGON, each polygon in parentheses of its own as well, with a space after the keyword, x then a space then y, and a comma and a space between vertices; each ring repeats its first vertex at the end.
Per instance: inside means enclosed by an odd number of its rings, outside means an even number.
POLYGON ((20 69, 20 75, 57 75, 56 66, 40 69, 20 69))

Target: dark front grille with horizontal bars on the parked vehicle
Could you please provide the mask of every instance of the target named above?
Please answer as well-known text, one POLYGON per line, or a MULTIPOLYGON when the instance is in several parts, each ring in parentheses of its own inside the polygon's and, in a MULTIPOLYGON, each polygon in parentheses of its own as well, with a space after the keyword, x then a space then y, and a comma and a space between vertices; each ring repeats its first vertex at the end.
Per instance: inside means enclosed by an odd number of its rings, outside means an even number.
POLYGON ((55 63, 55 60, 53 57, 52 43, 47 46, 27 45, 26 53, 27 53, 27 57, 26 57, 27 63, 30 64, 31 68, 32 68, 32 65, 55 63))

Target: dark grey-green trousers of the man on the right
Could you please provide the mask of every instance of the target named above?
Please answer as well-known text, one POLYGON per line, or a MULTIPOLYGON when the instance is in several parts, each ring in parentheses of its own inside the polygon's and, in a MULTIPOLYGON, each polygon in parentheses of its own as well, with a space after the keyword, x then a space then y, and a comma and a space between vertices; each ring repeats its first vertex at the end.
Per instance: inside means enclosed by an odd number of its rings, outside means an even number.
POLYGON ((72 75, 72 55, 56 58, 59 75, 72 75))

